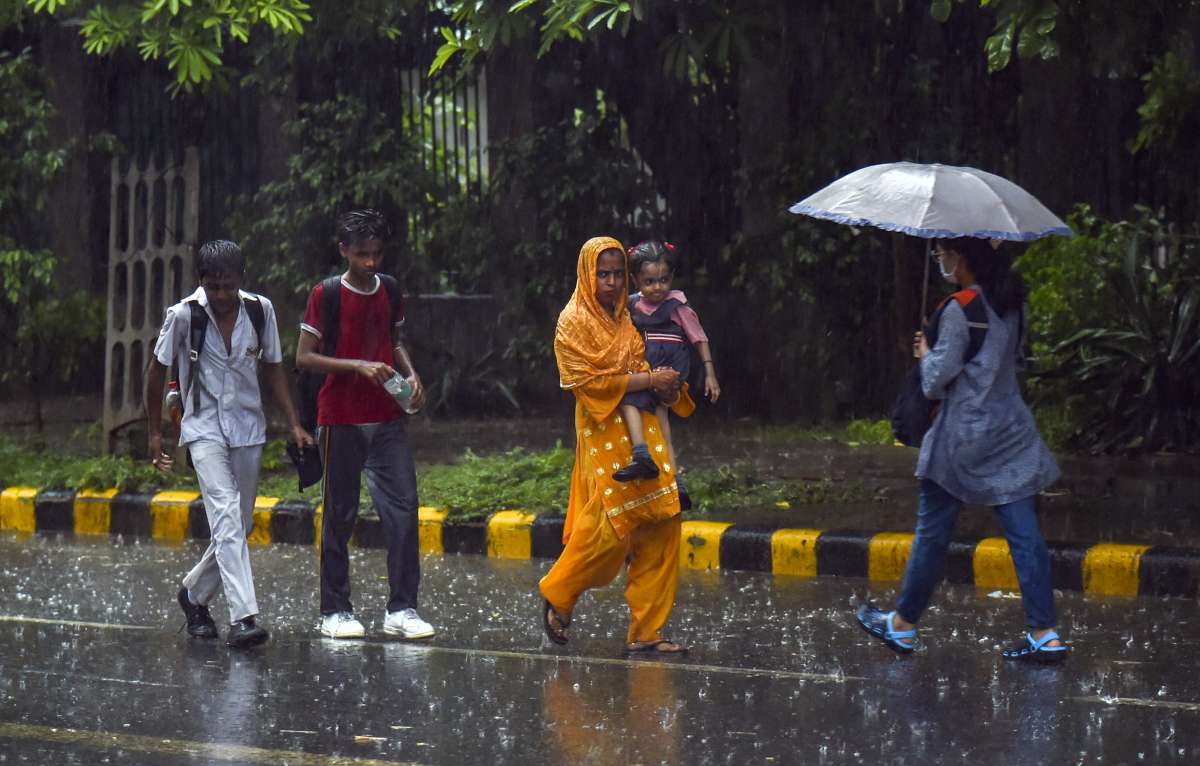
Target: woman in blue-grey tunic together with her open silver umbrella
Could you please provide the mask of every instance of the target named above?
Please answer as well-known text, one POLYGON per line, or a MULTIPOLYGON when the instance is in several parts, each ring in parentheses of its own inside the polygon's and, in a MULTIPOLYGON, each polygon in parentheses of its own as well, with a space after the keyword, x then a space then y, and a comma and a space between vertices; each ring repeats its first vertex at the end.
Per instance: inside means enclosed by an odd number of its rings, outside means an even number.
POLYGON ((912 162, 860 168, 790 210, 935 243, 942 277, 962 288, 958 300, 948 300, 934 316, 929 341, 918 333, 913 342, 922 390, 940 408, 920 443, 917 534, 900 598, 889 612, 862 606, 859 624, 892 650, 912 652, 917 621, 941 579, 962 503, 991 505, 1008 538, 1030 628, 1003 656, 1064 659, 1067 646, 1055 632, 1050 556, 1033 502, 1057 480, 1058 467, 1016 383, 1025 283, 1013 271, 1012 258, 989 240, 1070 237, 1070 228, 1008 179, 977 168, 912 162), (983 305, 982 317, 976 301, 983 305), (965 307, 978 318, 968 322, 965 307), (980 330, 982 343, 972 340, 980 330))

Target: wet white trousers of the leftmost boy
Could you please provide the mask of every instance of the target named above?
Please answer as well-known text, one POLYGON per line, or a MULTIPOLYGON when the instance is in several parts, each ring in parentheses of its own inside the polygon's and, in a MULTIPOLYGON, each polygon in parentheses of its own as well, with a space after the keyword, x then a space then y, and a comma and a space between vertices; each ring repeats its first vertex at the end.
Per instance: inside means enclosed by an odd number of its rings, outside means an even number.
POLYGON ((184 578, 184 587, 192 602, 208 604, 217 586, 224 586, 229 622, 236 622, 258 614, 246 533, 254 526, 263 445, 228 447, 199 441, 188 444, 188 449, 212 537, 199 563, 184 578))

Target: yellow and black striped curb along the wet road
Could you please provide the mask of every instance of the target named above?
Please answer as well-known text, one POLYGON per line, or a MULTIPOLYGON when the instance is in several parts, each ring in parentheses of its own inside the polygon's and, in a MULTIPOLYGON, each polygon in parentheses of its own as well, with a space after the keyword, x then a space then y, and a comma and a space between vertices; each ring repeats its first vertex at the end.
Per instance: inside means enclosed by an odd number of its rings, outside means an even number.
MULTIPOLYGON (((252 545, 319 538, 320 507, 259 497, 252 545)), ((497 558, 556 558, 563 550, 563 519, 502 510, 482 521, 448 521, 437 508, 420 509, 424 553, 478 553, 497 558)), ((0 529, 67 534, 121 534, 162 540, 208 539, 209 525, 197 492, 125 493, 116 490, 40 491, 13 486, 0 493, 0 529)), ((684 521, 679 565, 742 569, 802 578, 848 576, 894 582, 904 576, 912 547, 907 532, 790 529, 724 521, 684 521)), ((383 527, 360 515, 353 544, 383 547, 383 527)), ((1100 543, 1050 543, 1054 587, 1114 596, 1200 593, 1200 550, 1100 543)), ((946 562, 949 582, 1018 590, 1003 538, 955 540, 946 562)))

